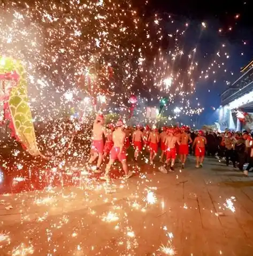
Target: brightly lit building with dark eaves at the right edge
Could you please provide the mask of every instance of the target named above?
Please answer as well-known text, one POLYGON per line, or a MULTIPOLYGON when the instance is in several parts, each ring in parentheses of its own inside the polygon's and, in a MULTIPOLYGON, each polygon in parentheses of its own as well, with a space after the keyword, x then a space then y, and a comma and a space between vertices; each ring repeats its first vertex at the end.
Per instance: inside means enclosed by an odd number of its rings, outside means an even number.
POLYGON ((242 75, 221 93, 219 108, 221 130, 253 129, 253 61, 241 72, 242 75))

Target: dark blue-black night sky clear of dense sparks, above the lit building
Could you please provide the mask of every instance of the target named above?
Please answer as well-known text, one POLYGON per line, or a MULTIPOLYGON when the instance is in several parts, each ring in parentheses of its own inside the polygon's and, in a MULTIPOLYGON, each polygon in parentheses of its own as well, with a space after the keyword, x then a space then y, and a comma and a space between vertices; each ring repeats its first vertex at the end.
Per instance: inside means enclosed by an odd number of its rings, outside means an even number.
MULTIPOLYGON (((240 68, 253 59, 253 20, 250 11, 252 7, 250 1, 190 1, 190 4, 189 1, 181 0, 150 1, 148 10, 150 14, 158 12, 163 16, 171 15, 178 23, 191 24, 183 44, 186 47, 196 44, 199 65, 208 67, 219 51, 220 45, 222 43, 226 45, 226 52, 229 54, 229 61, 225 64, 227 71, 218 71, 210 79, 195 81, 196 93, 191 100, 194 104, 198 98, 201 106, 205 108, 200 116, 194 117, 198 128, 217 121, 218 115, 214 108, 220 105, 219 94, 227 88, 226 81, 233 83, 240 76, 240 68), (199 30, 195 28, 202 21, 207 24, 207 29, 200 35, 199 30), (219 29, 222 29, 221 33, 219 29), (214 78, 216 83, 213 83, 214 78)), ((180 121, 187 122, 187 118, 182 117, 180 121)))

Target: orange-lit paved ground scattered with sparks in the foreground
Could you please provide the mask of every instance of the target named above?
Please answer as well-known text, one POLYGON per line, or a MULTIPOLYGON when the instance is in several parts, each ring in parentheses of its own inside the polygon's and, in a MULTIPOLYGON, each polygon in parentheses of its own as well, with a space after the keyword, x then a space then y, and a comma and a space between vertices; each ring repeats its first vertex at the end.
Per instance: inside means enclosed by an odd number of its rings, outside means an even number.
POLYGON ((133 169, 126 182, 70 173, 76 186, 1 195, 0 255, 253 255, 253 177, 217 159, 133 169))

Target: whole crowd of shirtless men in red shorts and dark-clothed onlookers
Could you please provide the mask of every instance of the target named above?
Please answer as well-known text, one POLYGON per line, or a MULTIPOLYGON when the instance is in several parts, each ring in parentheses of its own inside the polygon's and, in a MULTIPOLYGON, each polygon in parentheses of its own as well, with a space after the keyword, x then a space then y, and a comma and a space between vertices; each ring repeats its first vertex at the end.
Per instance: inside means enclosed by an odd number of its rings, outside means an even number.
POLYGON ((94 172, 102 172, 101 164, 105 157, 109 156, 109 163, 106 165, 105 174, 102 179, 109 179, 109 172, 115 160, 119 160, 125 177, 132 176, 127 166, 127 149, 133 145, 134 160, 140 153, 149 153, 149 162, 154 164, 160 148, 159 162, 169 172, 174 171, 175 159, 178 157, 181 167, 185 167, 188 154, 196 157, 196 168, 203 166, 206 155, 226 159, 227 166, 232 162, 233 167, 243 171, 245 163, 249 163, 244 174, 253 167, 252 137, 247 131, 243 133, 232 133, 226 130, 224 133, 213 131, 204 133, 203 130, 194 131, 187 126, 182 127, 126 127, 121 120, 115 125, 112 123, 104 127, 104 118, 98 115, 93 126, 93 142, 88 167, 98 158, 94 172), (105 138, 105 142, 104 142, 105 138), (236 165, 237 164, 237 165, 236 165))

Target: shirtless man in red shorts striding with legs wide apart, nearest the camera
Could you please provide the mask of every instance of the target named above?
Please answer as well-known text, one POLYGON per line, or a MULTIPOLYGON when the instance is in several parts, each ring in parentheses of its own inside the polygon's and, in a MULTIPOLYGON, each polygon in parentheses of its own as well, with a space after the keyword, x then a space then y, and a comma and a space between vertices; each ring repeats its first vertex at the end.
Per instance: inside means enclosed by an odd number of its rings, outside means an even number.
POLYGON ((105 180, 110 179, 109 172, 110 172, 111 166, 117 159, 119 159, 119 161, 122 164, 122 168, 125 172, 125 178, 126 179, 130 178, 133 175, 133 173, 128 172, 128 169, 127 169, 126 149, 124 147, 126 134, 123 131, 123 129, 124 129, 124 123, 121 120, 117 121, 116 130, 113 131, 112 133, 113 147, 110 152, 110 160, 108 165, 106 166, 105 175, 101 177, 101 179, 105 179, 105 180))

